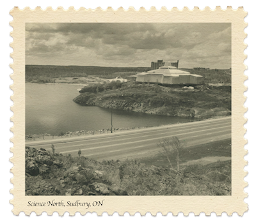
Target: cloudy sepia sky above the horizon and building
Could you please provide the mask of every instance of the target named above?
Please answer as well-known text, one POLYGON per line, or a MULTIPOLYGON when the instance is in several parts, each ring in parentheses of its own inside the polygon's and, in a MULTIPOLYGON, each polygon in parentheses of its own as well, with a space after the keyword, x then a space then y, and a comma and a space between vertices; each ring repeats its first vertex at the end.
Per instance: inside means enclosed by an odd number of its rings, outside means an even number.
POLYGON ((230 68, 230 24, 29 23, 26 64, 230 68))

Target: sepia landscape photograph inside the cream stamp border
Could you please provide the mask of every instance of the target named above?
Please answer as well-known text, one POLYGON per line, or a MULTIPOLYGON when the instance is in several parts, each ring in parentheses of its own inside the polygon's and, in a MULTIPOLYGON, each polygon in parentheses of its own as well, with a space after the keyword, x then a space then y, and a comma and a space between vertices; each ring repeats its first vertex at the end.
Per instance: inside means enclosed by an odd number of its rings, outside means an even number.
POLYGON ((26 195, 231 195, 231 23, 26 23, 26 195))

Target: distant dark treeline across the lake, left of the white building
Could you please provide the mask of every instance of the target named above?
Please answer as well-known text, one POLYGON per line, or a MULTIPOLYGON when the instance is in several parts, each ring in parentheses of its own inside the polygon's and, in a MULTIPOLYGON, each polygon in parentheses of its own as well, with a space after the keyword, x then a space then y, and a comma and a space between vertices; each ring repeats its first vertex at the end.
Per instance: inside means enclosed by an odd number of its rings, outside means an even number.
MULTIPOLYGON (((148 71, 147 67, 100 67, 100 66, 52 66, 52 65, 26 65, 26 80, 38 82, 51 82, 51 78, 61 77, 99 77, 113 78, 114 73, 148 71)), ((131 75, 131 74, 129 74, 131 75)))

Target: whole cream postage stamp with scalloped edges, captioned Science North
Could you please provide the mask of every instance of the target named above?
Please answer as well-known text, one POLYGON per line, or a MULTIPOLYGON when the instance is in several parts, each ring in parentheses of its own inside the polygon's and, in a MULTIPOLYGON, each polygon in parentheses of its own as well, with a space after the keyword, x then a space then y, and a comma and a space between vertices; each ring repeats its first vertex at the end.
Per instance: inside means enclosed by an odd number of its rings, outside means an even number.
POLYGON ((243 8, 14 8, 13 214, 243 215, 243 8))

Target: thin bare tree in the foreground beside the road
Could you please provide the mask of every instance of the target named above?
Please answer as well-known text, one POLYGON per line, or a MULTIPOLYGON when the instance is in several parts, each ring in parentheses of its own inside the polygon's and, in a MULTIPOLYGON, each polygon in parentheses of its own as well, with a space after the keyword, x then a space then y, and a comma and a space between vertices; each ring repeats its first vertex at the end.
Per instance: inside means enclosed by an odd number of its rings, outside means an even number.
POLYGON ((175 172, 178 172, 180 174, 179 168, 180 168, 180 159, 179 159, 179 153, 184 147, 186 146, 185 142, 181 142, 179 138, 177 137, 172 137, 172 138, 163 138, 157 143, 157 146, 161 147, 162 151, 160 152, 163 154, 163 156, 166 157, 168 160, 170 167, 172 170, 175 172), (172 155, 172 152, 175 151, 176 153, 176 163, 177 163, 177 168, 174 169, 172 162, 170 160, 170 156, 172 155))

